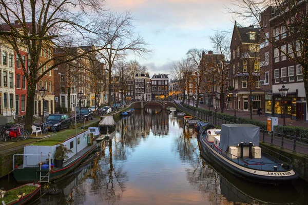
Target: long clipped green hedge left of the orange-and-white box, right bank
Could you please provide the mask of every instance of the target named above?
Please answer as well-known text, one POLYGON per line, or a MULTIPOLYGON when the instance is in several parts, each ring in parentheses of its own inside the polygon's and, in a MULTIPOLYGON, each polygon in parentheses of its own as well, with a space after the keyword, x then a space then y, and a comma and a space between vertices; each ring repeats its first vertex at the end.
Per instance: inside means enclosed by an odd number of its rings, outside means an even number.
MULTIPOLYGON (((181 102, 181 105, 184 106, 185 108, 204 113, 208 116, 214 116, 215 115, 215 112, 211 111, 211 110, 206 110, 206 109, 203 109, 203 108, 196 108, 196 107, 193 107, 193 106, 183 104, 182 102, 181 102)), ((232 122, 236 121, 239 124, 252 124, 252 125, 260 127, 261 130, 266 130, 266 122, 260 121, 260 120, 257 120, 257 119, 248 119, 246 117, 236 117, 234 115, 219 113, 219 112, 216 113, 216 116, 217 116, 217 118, 222 119, 222 120, 232 121, 232 122)))

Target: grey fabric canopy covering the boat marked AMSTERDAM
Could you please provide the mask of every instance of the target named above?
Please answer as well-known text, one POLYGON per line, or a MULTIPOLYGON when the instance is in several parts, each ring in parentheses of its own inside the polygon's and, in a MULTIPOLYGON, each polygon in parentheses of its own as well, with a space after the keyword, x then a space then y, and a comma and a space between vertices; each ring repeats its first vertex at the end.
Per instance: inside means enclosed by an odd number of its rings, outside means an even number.
POLYGON ((259 146, 260 128, 251 124, 221 125, 220 148, 227 150, 229 146, 237 147, 241 142, 253 142, 259 146))

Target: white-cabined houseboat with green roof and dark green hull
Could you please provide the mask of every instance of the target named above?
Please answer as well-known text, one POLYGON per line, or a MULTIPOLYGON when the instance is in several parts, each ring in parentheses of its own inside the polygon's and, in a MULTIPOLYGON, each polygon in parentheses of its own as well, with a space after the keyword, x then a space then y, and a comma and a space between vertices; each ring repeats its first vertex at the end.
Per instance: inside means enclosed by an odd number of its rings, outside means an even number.
MULTIPOLYGON (((54 139, 55 140, 55 139, 54 139)), ((13 175, 18 183, 49 182, 60 178, 80 165, 97 147, 91 138, 90 131, 86 130, 76 136, 56 144, 57 141, 39 141, 24 147, 24 154, 13 156, 13 175), (67 158, 56 159, 55 153, 61 148, 67 151, 67 158), (23 165, 15 165, 15 157, 23 156, 23 165), (62 161, 56 166, 52 161, 62 161), (50 162, 50 163, 49 163, 50 162)))

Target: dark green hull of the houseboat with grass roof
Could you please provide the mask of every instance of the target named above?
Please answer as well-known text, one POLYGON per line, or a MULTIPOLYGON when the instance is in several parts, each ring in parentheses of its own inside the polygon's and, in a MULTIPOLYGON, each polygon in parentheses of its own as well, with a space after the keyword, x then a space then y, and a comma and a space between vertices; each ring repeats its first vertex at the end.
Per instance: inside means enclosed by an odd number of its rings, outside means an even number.
MULTIPOLYGON (((49 176, 49 181, 53 181, 57 178, 65 176, 66 174, 74 170, 95 150, 97 145, 98 144, 92 145, 91 148, 85 154, 83 154, 78 160, 74 161, 69 166, 51 171, 49 176)), ((18 183, 28 183, 33 181, 40 181, 40 171, 41 170, 38 167, 14 169, 13 175, 18 183)), ((42 176, 47 174, 48 170, 42 170, 42 176)), ((44 180, 47 180, 47 178, 45 178, 44 180)))

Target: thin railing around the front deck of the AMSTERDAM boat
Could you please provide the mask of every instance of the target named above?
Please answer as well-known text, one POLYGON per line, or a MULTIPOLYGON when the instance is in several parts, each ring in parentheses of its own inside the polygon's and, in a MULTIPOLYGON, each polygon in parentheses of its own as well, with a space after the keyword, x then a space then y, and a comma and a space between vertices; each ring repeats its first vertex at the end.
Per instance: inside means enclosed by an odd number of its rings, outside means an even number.
POLYGON ((243 159, 241 157, 233 155, 233 154, 231 154, 231 153, 229 153, 225 150, 218 148, 215 145, 214 145, 214 149, 217 151, 217 153, 219 153, 224 158, 231 160, 232 162, 236 163, 237 165, 240 165, 240 166, 244 165, 246 168, 249 168, 249 169, 261 170, 261 171, 277 171, 277 172, 280 172, 280 171, 286 172, 286 171, 292 170, 290 163, 289 164, 283 163, 287 169, 281 170, 281 168, 282 168, 282 161, 281 160, 278 160, 279 162, 276 162, 276 163, 268 163, 268 162, 256 161, 256 160, 248 160, 248 159, 243 159), (249 167, 249 166, 251 166, 251 167, 249 167), (252 166, 254 166, 254 167, 252 167, 252 166), (273 170, 272 169, 269 170, 268 169, 269 167, 273 168, 273 170), (275 170, 275 169, 277 169, 277 170, 275 170))

